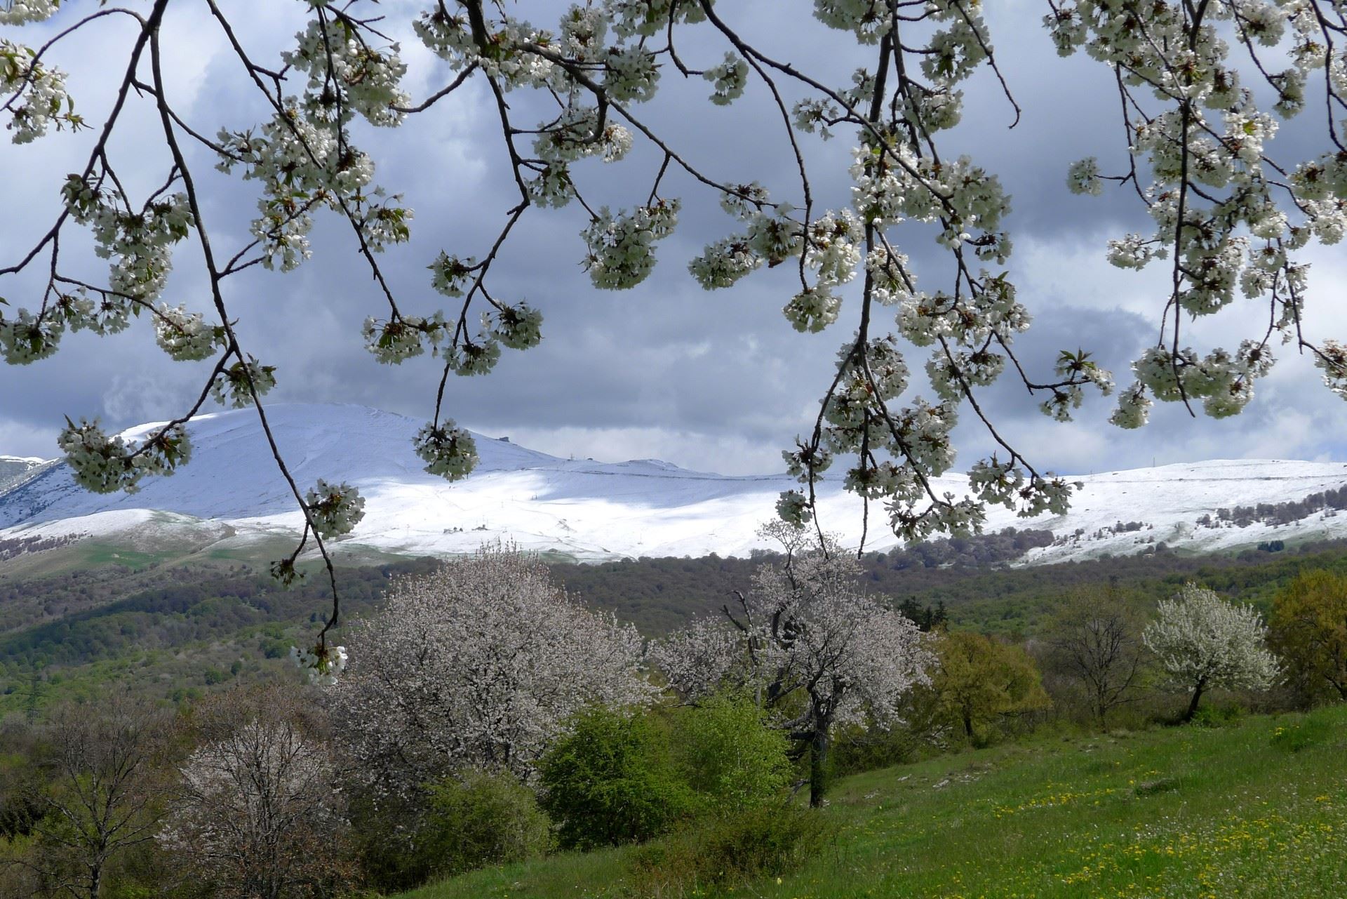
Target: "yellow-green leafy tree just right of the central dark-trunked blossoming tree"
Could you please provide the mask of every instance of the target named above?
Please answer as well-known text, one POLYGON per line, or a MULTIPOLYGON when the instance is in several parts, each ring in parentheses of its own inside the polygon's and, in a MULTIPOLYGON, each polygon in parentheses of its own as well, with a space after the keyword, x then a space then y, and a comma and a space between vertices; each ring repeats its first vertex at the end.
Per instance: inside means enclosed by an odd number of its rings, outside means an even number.
POLYGON ((1043 677, 1022 647, 995 638, 955 631, 936 642, 931 687, 942 710, 968 739, 1012 714, 1049 705, 1043 677))

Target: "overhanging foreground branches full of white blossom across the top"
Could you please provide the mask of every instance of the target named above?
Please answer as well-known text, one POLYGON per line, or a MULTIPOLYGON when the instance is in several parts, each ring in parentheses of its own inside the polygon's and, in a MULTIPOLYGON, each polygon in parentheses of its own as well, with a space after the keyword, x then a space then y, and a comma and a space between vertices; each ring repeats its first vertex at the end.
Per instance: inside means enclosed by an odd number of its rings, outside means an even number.
MULTIPOLYGON (((1002 437, 983 403, 986 388, 1009 372, 1047 415, 1068 419, 1086 391, 1110 392, 1113 376, 1083 350, 1047 360, 1016 352, 1030 315, 1006 270, 1009 198, 995 155, 973 159, 943 148, 959 128, 964 89, 975 88, 970 78, 978 71, 989 74, 982 82, 1004 89, 1018 119, 1018 100, 974 0, 783 5, 792 27, 812 24, 854 40, 855 71, 843 85, 811 74, 808 59, 765 53, 749 26, 722 18, 733 19, 729 4, 713 0, 564 7, 424 0, 414 12, 408 8, 416 4, 296 1, 307 24, 279 59, 263 59, 232 20, 247 15, 247 5, 199 0, 230 47, 236 77, 264 109, 251 127, 221 128, 190 119, 171 100, 175 73, 160 32, 170 0, 98 8, 0 0, 0 111, 13 140, 61 140, 51 132, 85 128, 97 135, 78 171, 51 185, 63 198, 59 214, 35 224, 31 244, 9 248, 12 259, 0 261, 0 282, 40 272, 42 284, 0 313, 5 361, 55 353, 66 330, 110 334, 139 318, 172 359, 210 363, 198 399, 140 441, 110 435, 97 422, 70 422, 59 443, 84 487, 133 491, 145 476, 186 464, 191 446, 183 425, 211 398, 256 407, 271 439, 263 400, 276 383, 277 360, 256 359, 240 340, 233 278, 253 267, 287 272, 302 266, 319 216, 349 225, 372 275, 370 315, 360 336, 369 352, 389 364, 427 352, 442 360, 435 411, 415 443, 427 470, 453 480, 473 469, 477 453, 445 407, 447 379, 486 373, 505 349, 528 349, 541 336, 539 310, 493 287, 501 248, 520 220, 581 206, 589 225, 575 257, 595 288, 621 290, 651 275, 655 247, 675 230, 684 204, 719 202, 735 224, 707 235, 704 251, 687 260, 692 276, 722 290, 760 268, 789 266, 797 286, 781 297, 785 317, 801 332, 839 332, 835 373, 820 384, 818 414, 787 453, 800 488, 783 495, 783 518, 799 523, 814 515, 815 485, 835 460, 867 512, 872 501, 881 503, 904 538, 977 530, 989 504, 1024 515, 1067 507, 1072 485, 1036 469, 1002 437), (114 100, 89 115, 67 93, 63 42, 128 26, 136 36, 125 58, 105 61, 117 80, 114 100), (407 65, 389 36, 395 31, 414 34, 442 59, 440 86, 428 96, 404 89, 407 65), (645 112, 672 80, 704 81, 707 108, 733 104, 750 86, 769 97, 780 120, 770 139, 788 148, 792 177, 738 183, 694 163, 680 150, 684 124, 661 128, 645 112), (498 137, 498 164, 516 195, 496 213, 493 233, 474 245, 404 259, 397 245, 409 237, 414 198, 379 186, 376 159, 357 136, 412 116, 451 116, 469 82, 485 85, 493 98, 484 127, 498 137), (517 109, 528 104, 520 96, 548 111, 521 117, 517 109), (139 106, 152 111, 167 160, 158 189, 147 194, 124 187, 119 171, 139 160, 119 158, 109 140, 139 106), (822 208, 814 190, 818 166, 835 163, 819 162, 830 159, 819 142, 835 133, 851 143, 843 163, 851 199, 822 208), (620 163, 637 142, 659 160, 648 189, 620 209, 595 208, 587 195, 602 177, 583 160, 620 163), (259 197, 251 240, 213 240, 221 229, 202 195, 195 160, 203 155, 259 197), (674 194, 675 182, 687 186, 680 189, 686 195, 674 194), (62 251, 78 229, 92 233, 108 260, 106 278, 70 274, 62 251), (175 253, 187 244, 195 245, 191 256, 199 257, 205 284, 190 298, 167 290, 175 253), (909 257, 915 247, 921 259, 943 261, 919 271, 916 256, 909 257), (389 260, 428 266, 426 290, 443 295, 446 309, 403 311, 404 298, 384 276, 389 260), (929 399, 911 377, 912 348, 924 354, 929 399), (986 425, 995 450, 970 466, 970 492, 962 497, 932 487, 954 464, 950 431, 960 412, 986 425)), ((1119 155, 1127 160, 1110 173, 1084 159, 1060 177, 1083 194, 1109 183, 1134 193, 1152 226, 1110 241, 1109 257, 1122 268, 1156 266, 1169 274, 1168 288, 1156 297, 1157 338, 1133 364, 1136 377, 1121 391, 1114 423, 1142 425, 1154 402, 1235 414, 1269 372, 1277 342, 1312 354, 1328 387, 1347 395, 1347 348, 1315 345, 1303 330, 1308 272, 1297 261, 1311 241, 1334 244, 1347 229, 1340 120, 1347 11, 1332 0, 1044 0, 1041 16, 1057 53, 1084 53, 1111 73, 1117 92, 1103 100, 1118 104, 1119 155), (1278 158, 1278 124, 1307 108, 1321 117, 1319 150, 1278 158), (1192 322, 1241 297, 1266 306, 1266 326, 1226 349, 1191 349, 1192 322)), ((310 540, 327 558, 325 540, 360 520, 361 500, 346 484, 296 484, 271 445, 306 522, 294 554, 275 566, 291 578, 310 540)), ((327 628, 337 616, 334 598, 327 628)), ((319 638, 315 655, 325 652, 319 638)))

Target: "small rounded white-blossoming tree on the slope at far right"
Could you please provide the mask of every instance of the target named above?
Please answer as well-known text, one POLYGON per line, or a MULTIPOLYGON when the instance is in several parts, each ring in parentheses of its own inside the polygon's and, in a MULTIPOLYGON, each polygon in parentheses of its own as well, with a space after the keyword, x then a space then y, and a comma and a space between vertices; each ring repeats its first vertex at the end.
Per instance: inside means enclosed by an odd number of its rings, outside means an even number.
POLYGON ((1185 584, 1173 598, 1161 600, 1158 613, 1141 636, 1171 683, 1192 693, 1184 721, 1197 713, 1207 690, 1266 690, 1277 682, 1280 666, 1265 646, 1268 627, 1258 609, 1185 584))

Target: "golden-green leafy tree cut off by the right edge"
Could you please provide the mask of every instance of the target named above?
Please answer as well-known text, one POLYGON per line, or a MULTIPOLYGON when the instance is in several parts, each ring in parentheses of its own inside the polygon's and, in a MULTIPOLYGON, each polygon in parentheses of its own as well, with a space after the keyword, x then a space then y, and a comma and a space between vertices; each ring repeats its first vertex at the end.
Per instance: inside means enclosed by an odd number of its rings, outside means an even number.
POLYGON ((1272 638, 1308 694, 1347 700, 1347 576, 1305 571, 1273 598, 1272 638))

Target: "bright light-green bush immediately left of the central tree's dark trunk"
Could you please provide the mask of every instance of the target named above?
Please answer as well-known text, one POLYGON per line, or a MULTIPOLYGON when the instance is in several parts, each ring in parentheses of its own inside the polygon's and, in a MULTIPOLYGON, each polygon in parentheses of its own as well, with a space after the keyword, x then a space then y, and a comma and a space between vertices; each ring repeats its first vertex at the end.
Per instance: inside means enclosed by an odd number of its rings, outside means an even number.
POLYGON ((707 809, 738 811, 777 797, 791 780, 789 740, 750 697, 715 694, 679 709, 674 748, 707 809))

